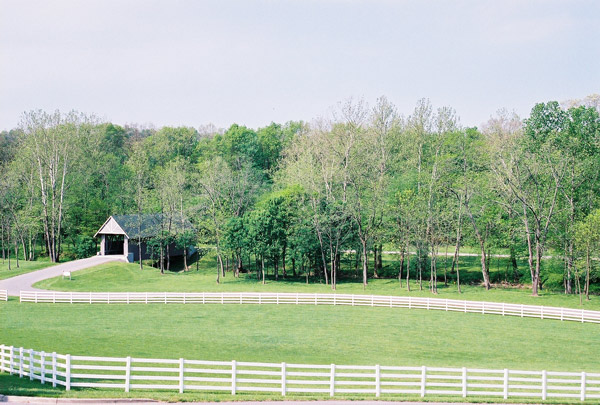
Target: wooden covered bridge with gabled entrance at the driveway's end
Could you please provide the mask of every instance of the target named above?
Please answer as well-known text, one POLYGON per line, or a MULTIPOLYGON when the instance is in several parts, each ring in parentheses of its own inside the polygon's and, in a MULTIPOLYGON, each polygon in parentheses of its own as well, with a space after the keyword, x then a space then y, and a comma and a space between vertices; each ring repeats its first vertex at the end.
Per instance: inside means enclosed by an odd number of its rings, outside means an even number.
MULTIPOLYGON (((133 214, 112 215, 100 227, 94 237, 100 237, 100 255, 123 255, 131 263, 140 259, 138 242, 142 246, 142 260, 150 259, 147 248, 149 239, 162 234, 177 234, 193 229, 192 224, 181 215, 133 214)), ((188 249, 188 255, 194 249, 188 249)), ((183 256, 183 249, 175 243, 169 245, 169 256, 183 256)))

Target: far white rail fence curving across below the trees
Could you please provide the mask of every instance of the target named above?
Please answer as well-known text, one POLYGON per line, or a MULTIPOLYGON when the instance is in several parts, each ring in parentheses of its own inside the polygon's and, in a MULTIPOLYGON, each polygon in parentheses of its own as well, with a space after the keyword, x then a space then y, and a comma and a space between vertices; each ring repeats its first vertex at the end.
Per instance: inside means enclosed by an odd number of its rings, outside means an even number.
POLYGON ((180 292, 54 292, 21 291, 21 302, 70 304, 304 304, 350 305, 442 311, 473 312, 541 319, 600 323, 600 311, 462 301, 443 298, 394 297, 386 295, 300 293, 180 293, 180 292))

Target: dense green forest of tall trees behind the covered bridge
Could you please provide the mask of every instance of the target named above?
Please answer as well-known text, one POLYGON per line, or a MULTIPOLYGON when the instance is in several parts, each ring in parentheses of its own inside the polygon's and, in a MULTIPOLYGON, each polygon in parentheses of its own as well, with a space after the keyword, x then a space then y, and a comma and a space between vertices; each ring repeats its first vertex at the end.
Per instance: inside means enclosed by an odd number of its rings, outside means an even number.
POLYGON ((501 110, 481 128, 428 100, 404 116, 385 97, 256 130, 27 112, 0 134, 2 260, 87 257, 110 215, 183 214, 193 229, 149 244, 216 248, 217 282, 226 271, 264 282, 269 271, 335 289, 350 257, 366 285, 391 276, 382 272, 391 249, 393 277, 436 293, 438 255, 450 249, 460 291, 469 247, 486 289, 491 255, 507 252, 510 283, 589 297, 600 285, 599 101, 544 102, 524 119, 501 110))

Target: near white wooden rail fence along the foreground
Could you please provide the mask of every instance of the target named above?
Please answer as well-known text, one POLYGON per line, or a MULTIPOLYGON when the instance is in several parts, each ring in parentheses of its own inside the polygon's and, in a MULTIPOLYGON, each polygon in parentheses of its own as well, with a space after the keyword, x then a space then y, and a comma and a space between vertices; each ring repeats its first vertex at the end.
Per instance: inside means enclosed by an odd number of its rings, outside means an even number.
POLYGON ((71 388, 600 399, 600 373, 91 357, 0 345, 0 371, 71 388))

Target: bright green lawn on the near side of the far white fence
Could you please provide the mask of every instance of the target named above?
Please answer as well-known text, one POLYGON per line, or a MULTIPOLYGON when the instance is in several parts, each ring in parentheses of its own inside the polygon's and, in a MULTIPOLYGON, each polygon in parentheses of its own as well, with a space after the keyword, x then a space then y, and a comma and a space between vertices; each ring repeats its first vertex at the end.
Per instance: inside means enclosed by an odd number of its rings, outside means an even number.
MULTIPOLYGON (((47 352, 600 372, 599 326, 576 322, 391 308, 292 305, 52 305, 11 300, 0 308, 1 343, 47 352)), ((48 395, 49 392, 48 387, 26 380, 0 377, 0 393, 48 395)), ((50 394, 127 395, 91 389, 68 394, 56 389, 50 394)), ((131 396, 231 399, 228 395, 210 397, 202 393, 179 395, 144 391, 131 396)), ((280 399, 277 395, 246 398, 280 399)))

